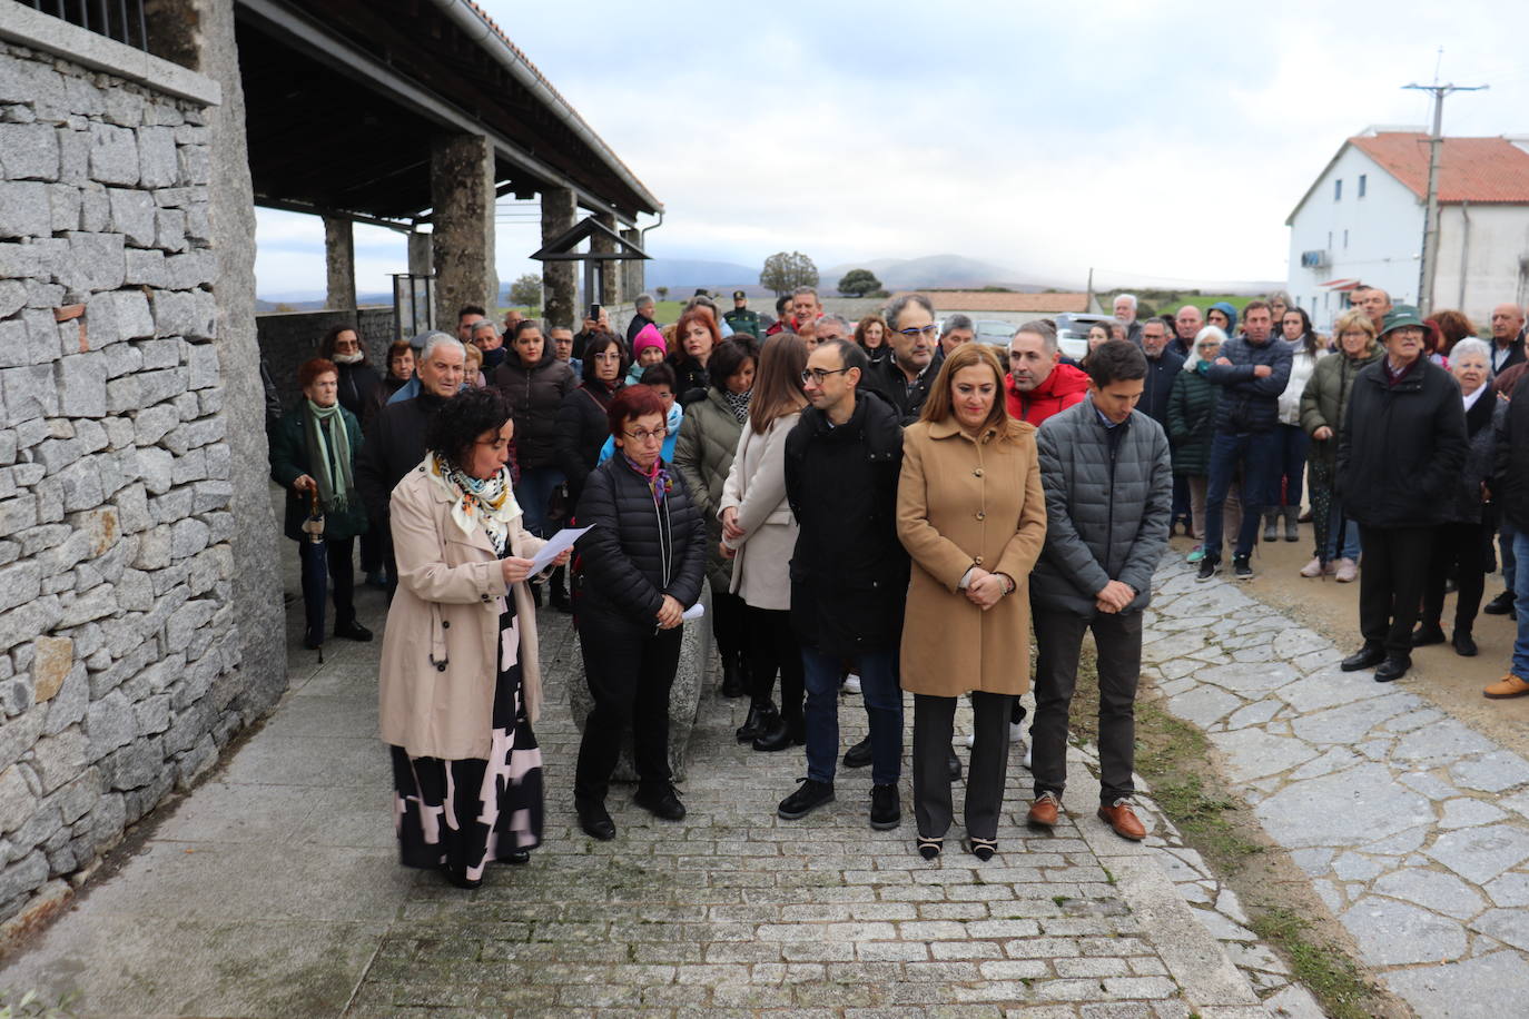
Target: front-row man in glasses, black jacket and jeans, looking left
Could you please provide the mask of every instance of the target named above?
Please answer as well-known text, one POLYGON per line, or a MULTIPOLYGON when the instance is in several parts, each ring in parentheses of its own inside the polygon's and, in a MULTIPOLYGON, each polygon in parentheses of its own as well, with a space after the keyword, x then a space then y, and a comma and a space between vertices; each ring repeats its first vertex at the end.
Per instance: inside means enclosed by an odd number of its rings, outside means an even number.
POLYGON ((803 373, 812 406, 786 437, 786 498, 800 526, 790 619, 806 671, 807 778, 777 813, 797 820, 833 801, 839 674, 849 662, 870 717, 870 823, 888 830, 901 820, 898 648, 908 553, 896 527, 902 428, 885 402, 859 396, 868 367, 865 351, 849 341, 813 350, 803 373))

